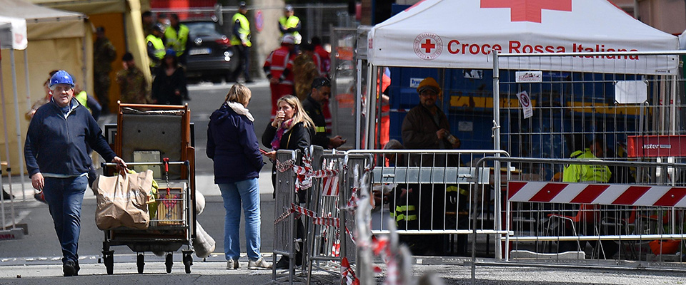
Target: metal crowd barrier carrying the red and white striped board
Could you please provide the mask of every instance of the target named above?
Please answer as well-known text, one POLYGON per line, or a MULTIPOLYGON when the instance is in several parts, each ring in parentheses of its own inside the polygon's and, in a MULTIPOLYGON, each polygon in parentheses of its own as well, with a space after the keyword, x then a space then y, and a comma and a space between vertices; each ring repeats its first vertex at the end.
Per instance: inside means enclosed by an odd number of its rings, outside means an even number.
POLYGON ((509 165, 506 261, 686 269, 685 163, 484 157, 478 165, 487 161, 509 165), (607 167, 613 176, 562 182, 532 173, 565 165, 607 167))

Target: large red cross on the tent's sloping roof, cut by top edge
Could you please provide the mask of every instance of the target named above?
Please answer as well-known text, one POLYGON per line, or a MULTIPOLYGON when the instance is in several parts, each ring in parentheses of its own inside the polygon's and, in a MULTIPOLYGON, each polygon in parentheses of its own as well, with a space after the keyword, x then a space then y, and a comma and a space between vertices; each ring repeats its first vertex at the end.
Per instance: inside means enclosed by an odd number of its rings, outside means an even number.
POLYGON ((572 0, 481 0, 481 8, 509 8, 510 21, 541 22, 546 10, 572 11, 572 0))

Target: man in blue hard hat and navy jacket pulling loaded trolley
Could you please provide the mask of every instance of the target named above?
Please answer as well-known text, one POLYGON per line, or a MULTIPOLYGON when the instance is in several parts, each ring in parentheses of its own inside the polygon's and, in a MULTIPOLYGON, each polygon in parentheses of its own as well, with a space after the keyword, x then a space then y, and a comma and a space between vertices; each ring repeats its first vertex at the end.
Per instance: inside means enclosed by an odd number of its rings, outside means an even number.
POLYGON ((92 163, 86 145, 116 163, 119 170, 126 168, 126 162, 111 150, 91 113, 73 100, 74 79, 69 73, 54 73, 49 87, 50 103, 36 110, 29 123, 24 158, 31 185, 44 192, 49 206, 61 245, 64 276, 74 276, 79 273, 81 204, 92 163))

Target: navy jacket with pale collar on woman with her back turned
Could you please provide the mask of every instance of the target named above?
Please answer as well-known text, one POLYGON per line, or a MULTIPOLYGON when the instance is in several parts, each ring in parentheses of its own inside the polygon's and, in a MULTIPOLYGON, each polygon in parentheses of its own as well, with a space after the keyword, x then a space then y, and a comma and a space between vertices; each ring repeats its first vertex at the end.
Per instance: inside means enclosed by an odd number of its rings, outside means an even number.
POLYGON ((222 104, 209 117, 207 157, 214 160, 216 184, 259 177, 264 161, 252 121, 222 104))

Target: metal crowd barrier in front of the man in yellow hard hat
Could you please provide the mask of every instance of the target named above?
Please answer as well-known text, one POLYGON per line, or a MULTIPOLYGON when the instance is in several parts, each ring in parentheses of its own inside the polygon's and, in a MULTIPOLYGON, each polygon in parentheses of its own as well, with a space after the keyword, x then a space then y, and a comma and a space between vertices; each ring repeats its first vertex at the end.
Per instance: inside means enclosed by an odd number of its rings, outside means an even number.
MULTIPOLYGON (((481 165, 477 175, 477 160, 495 155, 507 156, 507 152, 349 150, 347 154, 374 156, 369 185, 375 201, 373 234, 388 234, 385 221, 391 218, 397 222, 397 233, 404 237, 441 235, 437 237, 440 239, 437 242, 444 247, 441 254, 465 254, 466 235, 474 230, 487 234, 487 244, 491 243, 489 235, 504 234, 496 214, 500 211, 499 203, 494 203, 500 200, 499 191, 494 191, 494 185, 500 179, 496 174, 499 171, 481 165), (473 217, 476 219, 469 222, 473 217)), ((494 251, 499 252, 498 243, 495 240, 492 243, 494 251)))

